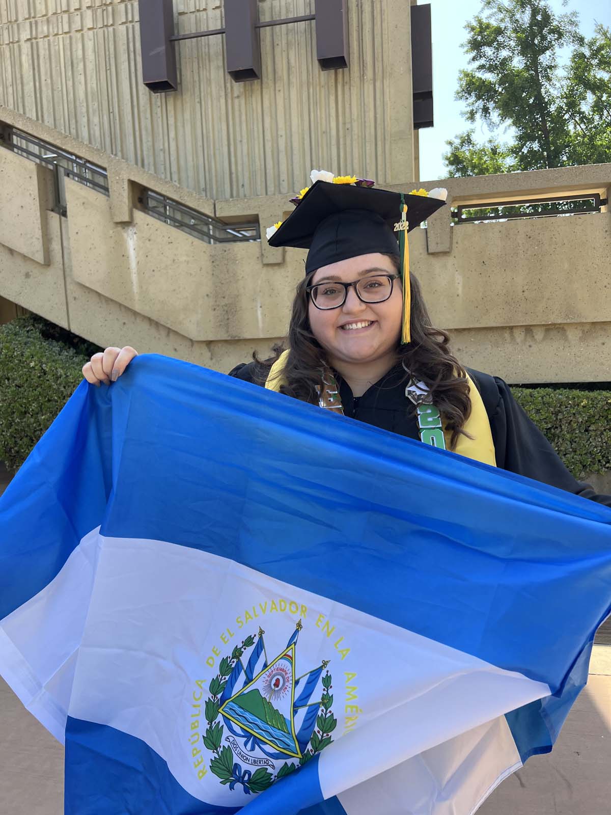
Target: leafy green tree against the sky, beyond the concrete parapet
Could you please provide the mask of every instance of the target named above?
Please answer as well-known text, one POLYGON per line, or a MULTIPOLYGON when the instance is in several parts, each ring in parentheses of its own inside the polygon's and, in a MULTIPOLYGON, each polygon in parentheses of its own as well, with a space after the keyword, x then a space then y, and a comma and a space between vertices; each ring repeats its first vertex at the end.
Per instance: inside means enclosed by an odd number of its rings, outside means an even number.
POLYGON ((510 129, 512 141, 477 144, 474 130, 447 142, 451 175, 541 170, 611 161, 609 29, 586 40, 577 13, 556 15, 546 0, 483 0, 466 26, 470 67, 457 99, 469 122, 510 129), (571 47, 569 65, 560 50, 571 47))

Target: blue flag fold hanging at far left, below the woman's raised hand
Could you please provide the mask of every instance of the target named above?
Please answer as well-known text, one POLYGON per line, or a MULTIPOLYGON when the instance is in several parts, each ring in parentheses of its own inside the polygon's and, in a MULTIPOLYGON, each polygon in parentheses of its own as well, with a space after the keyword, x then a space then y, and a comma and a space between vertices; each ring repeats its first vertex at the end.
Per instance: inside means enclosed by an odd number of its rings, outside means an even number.
POLYGON ((112 487, 111 435, 108 389, 83 381, 30 453, 20 470, 26 475, 7 487, 0 500, 0 619, 51 583, 99 526, 112 487))

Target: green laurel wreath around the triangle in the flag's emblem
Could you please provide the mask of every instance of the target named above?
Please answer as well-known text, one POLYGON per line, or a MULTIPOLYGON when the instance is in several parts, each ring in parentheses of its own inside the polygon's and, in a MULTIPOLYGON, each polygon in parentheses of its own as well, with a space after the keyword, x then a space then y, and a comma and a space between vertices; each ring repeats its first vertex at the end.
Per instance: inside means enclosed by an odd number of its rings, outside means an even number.
POLYGON ((316 729, 312 734, 312 738, 310 738, 308 749, 303 756, 301 756, 301 759, 299 759, 299 764, 295 764, 295 762, 289 764, 288 761, 285 761, 275 775, 270 773, 266 767, 260 767, 255 770, 249 778, 246 773, 243 773, 241 777, 237 776, 234 772, 235 762, 231 747, 221 747, 224 726, 222 725, 222 721, 218 721, 219 709, 221 707, 220 698, 227 684, 227 679, 231 676, 231 672, 235 667, 235 663, 237 663, 238 659, 242 658, 244 651, 248 648, 252 648, 254 644, 255 638, 252 634, 249 634, 248 637, 242 641, 241 646, 235 646, 231 652, 231 657, 226 656, 222 658, 218 666, 217 676, 214 676, 212 681, 210 681, 210 696, 206 700, 204 710, 208 727, 202 737, 204 746, 214 753, 214 758, 210 761, 210 770, 214 775, 221 779, 222 784, 229 784, 230 790, 233 790, 236 784, 241 784, 247 793, 263 792, 275 781, 279 781, 280 778, 285 778, 293 773, 297 769, 297 766, 306 764, 316 753, 319 753, 331 744, 333 740, 331 734, 337 726, 337 720, 336 717, 333 716, 332 711, 333 694, 330 693, 332 689, 332 676, 327 671, 322 680, 324 691, 321 698, 319 715, 316 718, 316 729))

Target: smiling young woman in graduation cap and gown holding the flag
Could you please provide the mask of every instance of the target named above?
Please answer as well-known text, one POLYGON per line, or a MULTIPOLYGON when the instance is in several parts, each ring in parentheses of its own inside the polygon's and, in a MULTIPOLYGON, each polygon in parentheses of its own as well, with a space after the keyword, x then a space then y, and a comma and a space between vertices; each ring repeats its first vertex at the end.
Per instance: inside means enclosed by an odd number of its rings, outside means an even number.
MULTIPOLYGON (((611 496, 569 473, 508 385, 464 368, 446 332, 431 324, 409 273, 406 233, 443 201, 424 190, 401 195, 343 180, 315 181, 268 231, 271 245, 309 249, 288 350, 231 376, 611 506, 611 496)), ((84 376, 108 385, 135 355, 107 348, 84 376)))

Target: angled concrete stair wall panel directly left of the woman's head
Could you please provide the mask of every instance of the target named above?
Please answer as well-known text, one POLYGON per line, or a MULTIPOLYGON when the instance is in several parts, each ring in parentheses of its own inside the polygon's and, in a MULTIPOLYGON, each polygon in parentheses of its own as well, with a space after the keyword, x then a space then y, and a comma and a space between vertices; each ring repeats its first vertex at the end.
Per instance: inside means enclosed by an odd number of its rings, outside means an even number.
POLYGON ((66 200, 77 283, 194 341, 286 332, 298 263, 262 274, 259 244, 211 246, 137 209, 115 224, 108 198, 75 181, 66 200))

